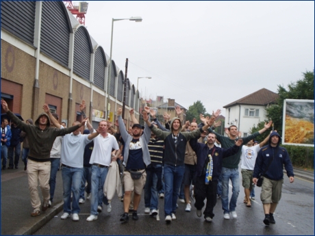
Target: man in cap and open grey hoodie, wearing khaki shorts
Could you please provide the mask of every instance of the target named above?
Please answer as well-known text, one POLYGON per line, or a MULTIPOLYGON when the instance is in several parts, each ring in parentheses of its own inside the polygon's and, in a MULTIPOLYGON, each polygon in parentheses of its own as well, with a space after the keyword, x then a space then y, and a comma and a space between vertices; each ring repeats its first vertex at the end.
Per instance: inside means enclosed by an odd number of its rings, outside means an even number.
MULTIPOLYGON (((125 187, 125 195, 123 198, 124 213, 121 215, 121 222, 127 222, 129 220, 129 205, 131 200, 131 192, 134 191, 134 212, 132 213, 132 220, 138 220, 138 206, 141 199, 142 189, 146 181, 147 173, 145 168, 151 163, 148 143, 151 137, 151 131, 145 124, 144 133, 140 124, 134 124, 132 126, 131 134, 127 133, 123 118, 121 118, 122 109, 118 108, 117 118, 119 124, 119 130, 121 137, 125 142, 125 148, 123 153, 123 164, 125 170, 123 172, 123 181, 125 187), (140 179, 132 179, 130 171, 141 172, 140 179)), ((142 114, 147 114, 143 111, 142 114)))

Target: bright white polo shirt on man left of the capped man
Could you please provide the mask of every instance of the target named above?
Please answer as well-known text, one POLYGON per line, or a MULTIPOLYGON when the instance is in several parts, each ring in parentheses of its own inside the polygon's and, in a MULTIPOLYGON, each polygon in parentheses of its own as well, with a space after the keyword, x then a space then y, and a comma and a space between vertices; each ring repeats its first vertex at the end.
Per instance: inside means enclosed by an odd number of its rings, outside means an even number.
POLYGON ((106 137, 99 134, 93 141, 94 147, 90 164, 97 163, 103 166, 110 166, 110 162, 112 161, 112 149, 119 149, 116 138, 110 133, 108 133, 106 137))

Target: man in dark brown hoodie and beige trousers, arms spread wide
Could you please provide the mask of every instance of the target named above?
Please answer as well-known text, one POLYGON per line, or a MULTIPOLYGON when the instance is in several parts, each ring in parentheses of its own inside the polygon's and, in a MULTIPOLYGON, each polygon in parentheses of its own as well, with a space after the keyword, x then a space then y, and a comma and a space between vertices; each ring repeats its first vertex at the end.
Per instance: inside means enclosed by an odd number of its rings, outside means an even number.
POLYGON ((31 194, 31 206, 34 211, 31 216, 40 215, 40 197, 38 195, 38 182, 42 189, 42 211, 46 211, 49 207, 49 176, 51 170, 50 151, 55 141, 55 137, 66 135, 77 129, 80 129, 86 120, 81 123, 77 122, 73 127, 66 129, 54 129, 50 127, 49 116, 43 112, 38 116, 35 125, 25 124, 16 117, 8 108, 8 104, 1 100, 1 105, 8 116, 16 123, 16 125, 29 137, 31 146, 29 146, 29 155, 27 162, 27 176, 29 182, 29 192, 31 194))

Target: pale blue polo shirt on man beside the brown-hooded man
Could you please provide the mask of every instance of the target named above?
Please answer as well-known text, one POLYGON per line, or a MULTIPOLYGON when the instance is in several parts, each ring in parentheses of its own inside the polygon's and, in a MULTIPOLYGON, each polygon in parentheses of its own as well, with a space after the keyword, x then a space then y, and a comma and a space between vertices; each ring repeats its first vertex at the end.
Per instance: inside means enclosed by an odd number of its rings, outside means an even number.
POLYGON ((92 142, 88 140, 88 134, 64 135, 61 148, 61 163, 74 168, 83 168, 83 155, 86 144, 92 142))

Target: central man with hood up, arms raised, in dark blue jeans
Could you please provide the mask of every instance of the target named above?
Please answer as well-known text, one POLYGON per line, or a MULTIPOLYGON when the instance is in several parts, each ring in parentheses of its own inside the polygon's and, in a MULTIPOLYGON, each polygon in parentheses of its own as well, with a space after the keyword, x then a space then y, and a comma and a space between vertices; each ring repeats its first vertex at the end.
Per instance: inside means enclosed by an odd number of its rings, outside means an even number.
POLYGON ((164 198, 164 213, 166 223, 171 223, 176 220, 176 205, 179 196, 179 187, 183 180, 185 172, 185 150, 188 140, 194 137, 199 137, 201 132, 207 130, 208 125, 212 124, 220 114, 220 110, 212 116, 207 124, 192 132, 180 132, 181 120, 175 117, 171 120, 171 131, 162 131, 154 127, 149 121, 147 112, 143 113, 143 120, 149 126, 151 131, 164 140, 164 180, 165 180, 165 198, 164 198))

